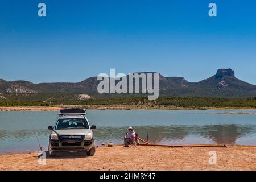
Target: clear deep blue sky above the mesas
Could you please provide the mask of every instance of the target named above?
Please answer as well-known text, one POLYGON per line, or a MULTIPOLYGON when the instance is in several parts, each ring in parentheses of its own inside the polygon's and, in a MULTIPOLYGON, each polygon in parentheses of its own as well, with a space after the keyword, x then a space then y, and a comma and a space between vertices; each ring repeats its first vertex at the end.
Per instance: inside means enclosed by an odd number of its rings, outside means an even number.
POLYGON ((196 82, 232 68, 256 84, 255 22, 256 1, 245 0, 2 0, 0 78, 79 82, 115 68, 196 82))

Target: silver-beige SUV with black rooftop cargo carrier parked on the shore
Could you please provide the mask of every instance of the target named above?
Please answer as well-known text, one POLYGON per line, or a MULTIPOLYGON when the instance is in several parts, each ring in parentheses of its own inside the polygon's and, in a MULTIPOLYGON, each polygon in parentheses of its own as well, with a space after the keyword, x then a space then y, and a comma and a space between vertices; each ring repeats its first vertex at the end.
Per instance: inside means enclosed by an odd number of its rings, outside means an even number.
POLYGON ((61 151, 84 151, 88 156, 95 154, 95 144, 93 139, 93 129, 85 117, 84 109, 63 109, 60 110, 59 119, 49 136, 49 156, 55 156, 61 151))

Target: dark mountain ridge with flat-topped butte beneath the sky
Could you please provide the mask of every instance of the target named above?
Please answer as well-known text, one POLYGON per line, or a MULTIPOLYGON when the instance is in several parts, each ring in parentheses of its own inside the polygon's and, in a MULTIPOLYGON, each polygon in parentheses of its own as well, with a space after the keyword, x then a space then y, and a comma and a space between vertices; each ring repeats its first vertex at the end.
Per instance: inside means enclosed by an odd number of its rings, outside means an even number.
MULTIPOLYGON (((156 73, 156 72, 137 72, 156 73)), ((97 77, 80 82, 53 82, 34 84, 29 81, 0 79, 0 93, 84 93, 98 94, 97 77)), ((164 77, 159 73, 159 94, 171 96, 248 97, 256 96, 256 85, 235 77, 235 72, 218 69, 216 74, 199 82, 189 82, 184 77, 164 77)))

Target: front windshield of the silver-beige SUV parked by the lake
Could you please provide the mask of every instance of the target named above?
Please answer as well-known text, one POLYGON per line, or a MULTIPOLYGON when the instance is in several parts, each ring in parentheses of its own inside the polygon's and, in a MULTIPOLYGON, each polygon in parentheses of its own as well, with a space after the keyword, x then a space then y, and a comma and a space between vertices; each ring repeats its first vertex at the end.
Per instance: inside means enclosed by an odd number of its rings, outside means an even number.
POLYGON ((57 121, 56 130, 68 129, 89 129, 86 119, 72 118, 72 119, 59 119, 57 121))

